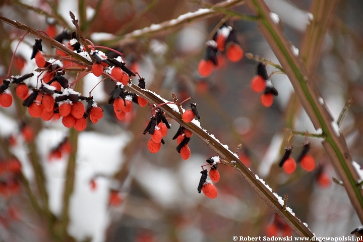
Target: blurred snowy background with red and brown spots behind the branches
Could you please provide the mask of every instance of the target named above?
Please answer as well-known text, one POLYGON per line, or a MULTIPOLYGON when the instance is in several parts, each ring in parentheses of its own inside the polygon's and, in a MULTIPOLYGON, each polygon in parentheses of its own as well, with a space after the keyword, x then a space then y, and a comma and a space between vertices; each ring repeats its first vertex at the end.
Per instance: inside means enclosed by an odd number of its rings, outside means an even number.
MULTIPOLYGON (((279 16, 287 38, 297 48, 303 44, 311 20, 309 12, 316 2, 319 1, 266 1, 279 16)), ((220 53, 219 65, 209 77, 198 74, 205 42, 225 17, 223 14, 126 41, 123 36, 134 30, 206 7, 197 1, 168 0, 5 0, 0 6, 0 15, 36 29, 49 31, 55 22, 55 33, 75 30, 69 17, 72 11, 80 20, 83 35, 95 45, 123 52, 127 65, 134 65, 134 70, 145 78, 147 89, 168 100, 172 100, 172 93, 179 101, 192 96, 198 104, 202 128, 233 152, 242 144, 239 158, 274 192, 280 196, 287 194, 287 205, 317 236, 348 236, 359 226, 344 188, 331 181, 336 174, 322 140, 304 136, 290 140, 295 159, 302 144, 311 142, 309 154, 317 164, 314 171, 307 172, 297 165, 295 172, 287 175, 278 167, 287 145, 285 128, 317 133, 285 75, 277 73, 271 77, 279 95, 271 107, 265 108, 260 103, 261 94, 250 87, 251 79, 257 74, 254 59, 244 57, 232 63, 220 53)), ((233 10, 253 14, 243 1, 233 10)), ((362 12, 363 4, 359 0, 338 2, 328 16, 331 23, 311 73, 335 120, 346 101, 352 100, 340 131, 358 164, 363 164, 362 12)), ((237 40, 245 53, 278 63, 256 22, 230 18, 226 23, 236 29, 237 40)), ((0 24, 0 29, 0 80, 3 80, 24 31, 5 23, 0 24)), ((11 75, 24 75, 37 68, 34 60, 30 60, 34 38, 28 34, 19 44, 11 75)), ((43 43, 43 51, 54 54, 55 49, 43 43)), ((268 74, 276 70, 267 66, 268 74)), ((26 81, 33 87, 39 75, 34 73, 26 81)), ((71 73, 67 77, 70 81, 76 79, 71 73)), ((88 96, 100 80, 93 74, 84 77, 82 94, 88 96)), ((137 83, 138 78, 133 82, 137 83)), ((193 136, 189 143, 191 157, 186 161, 181 159, 172 140, 179 126, 172 119, 168 119, 171 129, 164 138, 165 145, 158 153, 151 154, 147 149, 150 137, 142 134, 151 108, 134 105, 124 120, 118 120, 112 106, 107 104, 113 87, 108 80, 94 89, 92 95, 103 108, 104 116, 97 124, 89 122, 86 130, 78 134, 78 146, 71 147, 77 155, 67 225, 70 241, 74 238, 77 241, 202 242, 231 241, 234 235, 295 235, 231 167, 220 165, 218 168, 221 178, 215 184, 216 199, 199 194, 201 165, 216 154, 193 136)), ((51 241, 54 237, 49 232, 49 224, 37 213, 29 194, 40 200, 36 183, 37 172, 42 170, 54 221, 63 216, 69 149, 61 149, 61 145, 69 145, 67 138, 74 129, 65 128, 59 120, 44 122, 30 117, 19 105, 21 101, 13 96, 11 107, 0 107, 0 164, 17 159, 22 167, 17 174, 0 168, 0 241, 51 241), (52 156, 54 150, 61 155, 52 156), (37 169, 32 165, 34 154, 40 164, 37 169)), ((189 109, 189 101, 184 107, 189 109)), ((58 226, 57 222, 53 225, 58 226)))

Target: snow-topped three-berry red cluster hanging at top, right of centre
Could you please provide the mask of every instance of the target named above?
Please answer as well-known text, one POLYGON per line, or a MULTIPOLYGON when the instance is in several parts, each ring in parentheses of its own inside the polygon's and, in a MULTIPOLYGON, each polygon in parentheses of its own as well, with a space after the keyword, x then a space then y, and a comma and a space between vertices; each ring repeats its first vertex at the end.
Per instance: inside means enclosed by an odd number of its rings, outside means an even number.
POLYGON ((213 67, 218 66, 218 54, 223 52, 226 52, 231 62, 238 62, 244 54, 238 44, 236 31, 231 26, 222 25, 214 34, 213 39, 206 42, 205 56, 198 64, 199 75, 208 77, 213 67))

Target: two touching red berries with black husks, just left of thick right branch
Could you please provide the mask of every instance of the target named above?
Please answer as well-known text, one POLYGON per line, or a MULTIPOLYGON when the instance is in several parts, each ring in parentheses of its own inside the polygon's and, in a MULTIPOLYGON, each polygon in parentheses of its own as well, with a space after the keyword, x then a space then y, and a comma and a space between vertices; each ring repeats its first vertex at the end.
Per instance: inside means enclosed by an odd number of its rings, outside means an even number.
POLYGON ((257 65, 257 76, 252 78, 251 88, 254 92, 263 92, 260 99, 262 105, 265 107, 270 107, 272 105, 274 96, 278 95, 278 91, 272 85, 272 82, 267 75, 266 64, 260 62, 257 65))

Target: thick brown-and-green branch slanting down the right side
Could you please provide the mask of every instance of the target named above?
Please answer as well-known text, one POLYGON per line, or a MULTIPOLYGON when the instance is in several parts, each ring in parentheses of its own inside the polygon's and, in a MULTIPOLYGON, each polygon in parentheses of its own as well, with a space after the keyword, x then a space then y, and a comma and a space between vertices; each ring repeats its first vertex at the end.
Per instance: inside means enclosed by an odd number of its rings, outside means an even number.
POLYGON ((345 184, 348 197, 360 221, 363 222, 363 196, 362 191, 356 186, 359 176, 352 167, 352 158, 343 135, 336 134, 333 127, 333 118, 327 107, 319 102, 321 94, 315 85, 315 81, 301 59, 292 53, 291 44, 281 28, 269 17, 271 11, 265 2, 262 0, 246 0, 246 3, 261 17, 259 28, 284 68, 314 127, 316 129, 321 128, 326 136, 326 140, 322 144, 345 184))

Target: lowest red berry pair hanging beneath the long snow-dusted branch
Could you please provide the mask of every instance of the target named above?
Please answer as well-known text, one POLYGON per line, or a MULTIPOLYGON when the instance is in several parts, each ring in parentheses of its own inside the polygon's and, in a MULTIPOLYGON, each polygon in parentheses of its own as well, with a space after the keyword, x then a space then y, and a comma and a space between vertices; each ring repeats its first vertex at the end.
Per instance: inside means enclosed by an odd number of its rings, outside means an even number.
POLYGON ((211 178, 211 180, 207 180, 208 170, 204 169, 203 167, 205 165, 203 165, 202 166, 203 170, 201 171, 202 176, 199 180, 198 192, 201 193, 203 191, 204 195, 207 198, 214 199, 218 196, 218 191, 217 188, 213 185, 212 181, 214 183, 217 183, 219 181, 220 175, 217 168, 220 159, 219 157, 214 156, 207 159, 207 162, 208 162, 207 165, 211 166, 209 170, 209 177, 211 178))

